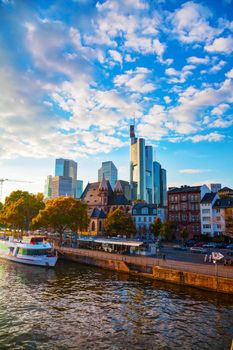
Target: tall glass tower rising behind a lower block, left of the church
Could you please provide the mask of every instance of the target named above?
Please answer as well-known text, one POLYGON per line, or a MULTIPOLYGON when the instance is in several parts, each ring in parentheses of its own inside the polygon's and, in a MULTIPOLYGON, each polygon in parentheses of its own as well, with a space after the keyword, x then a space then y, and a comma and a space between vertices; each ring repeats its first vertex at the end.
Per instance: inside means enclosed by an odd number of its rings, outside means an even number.
POLYGON ((77 163, 74 160, 56 159, 55 176, 72 178, 72 196, 76 196, 77 163))

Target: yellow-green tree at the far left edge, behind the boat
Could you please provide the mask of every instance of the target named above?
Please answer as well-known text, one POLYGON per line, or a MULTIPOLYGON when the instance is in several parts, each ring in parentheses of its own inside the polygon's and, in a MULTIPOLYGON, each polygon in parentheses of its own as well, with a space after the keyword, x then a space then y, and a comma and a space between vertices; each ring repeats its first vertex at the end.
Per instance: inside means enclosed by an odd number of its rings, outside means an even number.
POLYGON ((0 212, 0 221, 14 229, 29 230, 32 219, 42 208, 44 208, 42 193, 13 191, 6 197, 0 212))

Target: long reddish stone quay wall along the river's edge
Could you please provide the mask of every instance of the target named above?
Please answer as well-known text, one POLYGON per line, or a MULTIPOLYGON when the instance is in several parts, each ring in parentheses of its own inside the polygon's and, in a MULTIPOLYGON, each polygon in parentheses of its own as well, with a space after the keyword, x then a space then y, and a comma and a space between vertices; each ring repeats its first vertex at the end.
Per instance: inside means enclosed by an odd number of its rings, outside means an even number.
POLYGON ((233 267, 55 246, 59 257, 155 280, 233 294, 233 267))

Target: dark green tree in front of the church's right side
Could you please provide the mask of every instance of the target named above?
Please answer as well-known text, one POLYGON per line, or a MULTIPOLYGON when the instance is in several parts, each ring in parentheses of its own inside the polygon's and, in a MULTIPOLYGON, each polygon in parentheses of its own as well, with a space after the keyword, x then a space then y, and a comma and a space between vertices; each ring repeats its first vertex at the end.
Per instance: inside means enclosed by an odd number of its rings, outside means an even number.
POLYGON ((136 233, 132 217, 118 208, 109 212, 105 220, 104 228, 106 233, 112 237, 117 235, 130 237, 136 233))

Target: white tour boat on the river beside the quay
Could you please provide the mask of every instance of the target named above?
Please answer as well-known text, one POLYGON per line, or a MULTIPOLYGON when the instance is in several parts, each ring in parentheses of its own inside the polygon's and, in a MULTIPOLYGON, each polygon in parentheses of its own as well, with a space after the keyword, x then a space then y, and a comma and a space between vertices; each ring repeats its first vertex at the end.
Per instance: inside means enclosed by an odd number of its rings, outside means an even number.
POLYGON ((22 240, 0 240, 0 258, 27 265, 55 266, 57 256, 43 236, 23 237, 22 240))

